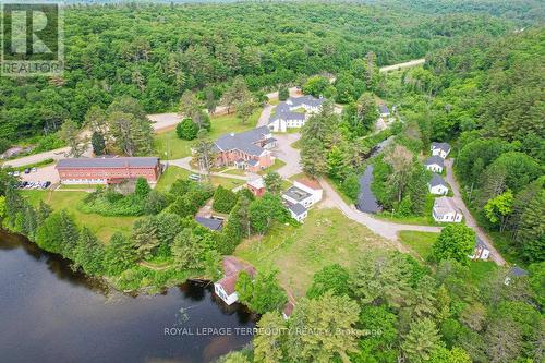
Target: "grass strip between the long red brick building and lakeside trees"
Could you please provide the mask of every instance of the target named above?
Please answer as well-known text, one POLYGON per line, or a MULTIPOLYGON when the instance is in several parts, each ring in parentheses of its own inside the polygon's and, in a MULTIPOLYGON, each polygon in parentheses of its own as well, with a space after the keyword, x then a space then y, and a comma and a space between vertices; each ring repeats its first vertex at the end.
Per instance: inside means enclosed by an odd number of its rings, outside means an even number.
POLYGON ((137 217, 104 217, 96 214, 84 214, 77 209, 78 203, 87 195, 85 192, 55 192, 55 191, 21 191, 22 195, 37 205, 39 201, 49 204, 53 210, 66 209, 80 227, 89 228, 102 242, 121 231, 129 233, 137 217))

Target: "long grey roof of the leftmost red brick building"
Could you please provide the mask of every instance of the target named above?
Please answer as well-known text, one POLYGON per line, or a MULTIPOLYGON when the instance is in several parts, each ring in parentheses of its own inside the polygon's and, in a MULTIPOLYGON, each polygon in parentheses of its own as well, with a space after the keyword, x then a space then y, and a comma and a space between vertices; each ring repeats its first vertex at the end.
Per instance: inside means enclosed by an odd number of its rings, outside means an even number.
POLYGON ((72 158, 60 159, 56 168, 155 168, 158 162, 157 157, 72 158))

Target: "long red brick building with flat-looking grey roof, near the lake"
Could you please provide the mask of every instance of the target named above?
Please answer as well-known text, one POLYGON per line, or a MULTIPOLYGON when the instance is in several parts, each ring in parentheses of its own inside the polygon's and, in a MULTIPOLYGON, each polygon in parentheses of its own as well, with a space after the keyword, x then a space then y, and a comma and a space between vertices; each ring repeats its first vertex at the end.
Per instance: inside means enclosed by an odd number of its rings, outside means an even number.
POLYGON ((140 177, 155 183, 161 174, 156 157, 61 159, 56 169, 63 184, 116 184, 140 177))

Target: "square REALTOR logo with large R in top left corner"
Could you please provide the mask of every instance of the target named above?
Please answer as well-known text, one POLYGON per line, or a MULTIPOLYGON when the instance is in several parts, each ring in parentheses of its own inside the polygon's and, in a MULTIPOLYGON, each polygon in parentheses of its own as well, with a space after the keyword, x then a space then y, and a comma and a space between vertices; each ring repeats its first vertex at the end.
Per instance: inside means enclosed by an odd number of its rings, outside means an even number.
POLYGON ((2 2, 1 21, 1 75, 62 74, 64 44, 60 3, 2 2))

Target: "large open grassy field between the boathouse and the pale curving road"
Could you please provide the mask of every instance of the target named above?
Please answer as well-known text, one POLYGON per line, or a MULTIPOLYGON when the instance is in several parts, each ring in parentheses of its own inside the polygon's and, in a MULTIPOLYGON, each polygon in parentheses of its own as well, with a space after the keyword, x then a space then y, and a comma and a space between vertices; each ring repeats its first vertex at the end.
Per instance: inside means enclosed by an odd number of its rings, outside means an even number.
POLYGON ((380 237, 339 210, 313 209, 304 225, 276 226, 262 241, 244 241, 234 254, 258 269, 278 268, 282 286, 299 298, 322 267, 334 263, 349 267, 371 249, 387 246, 380 237))

